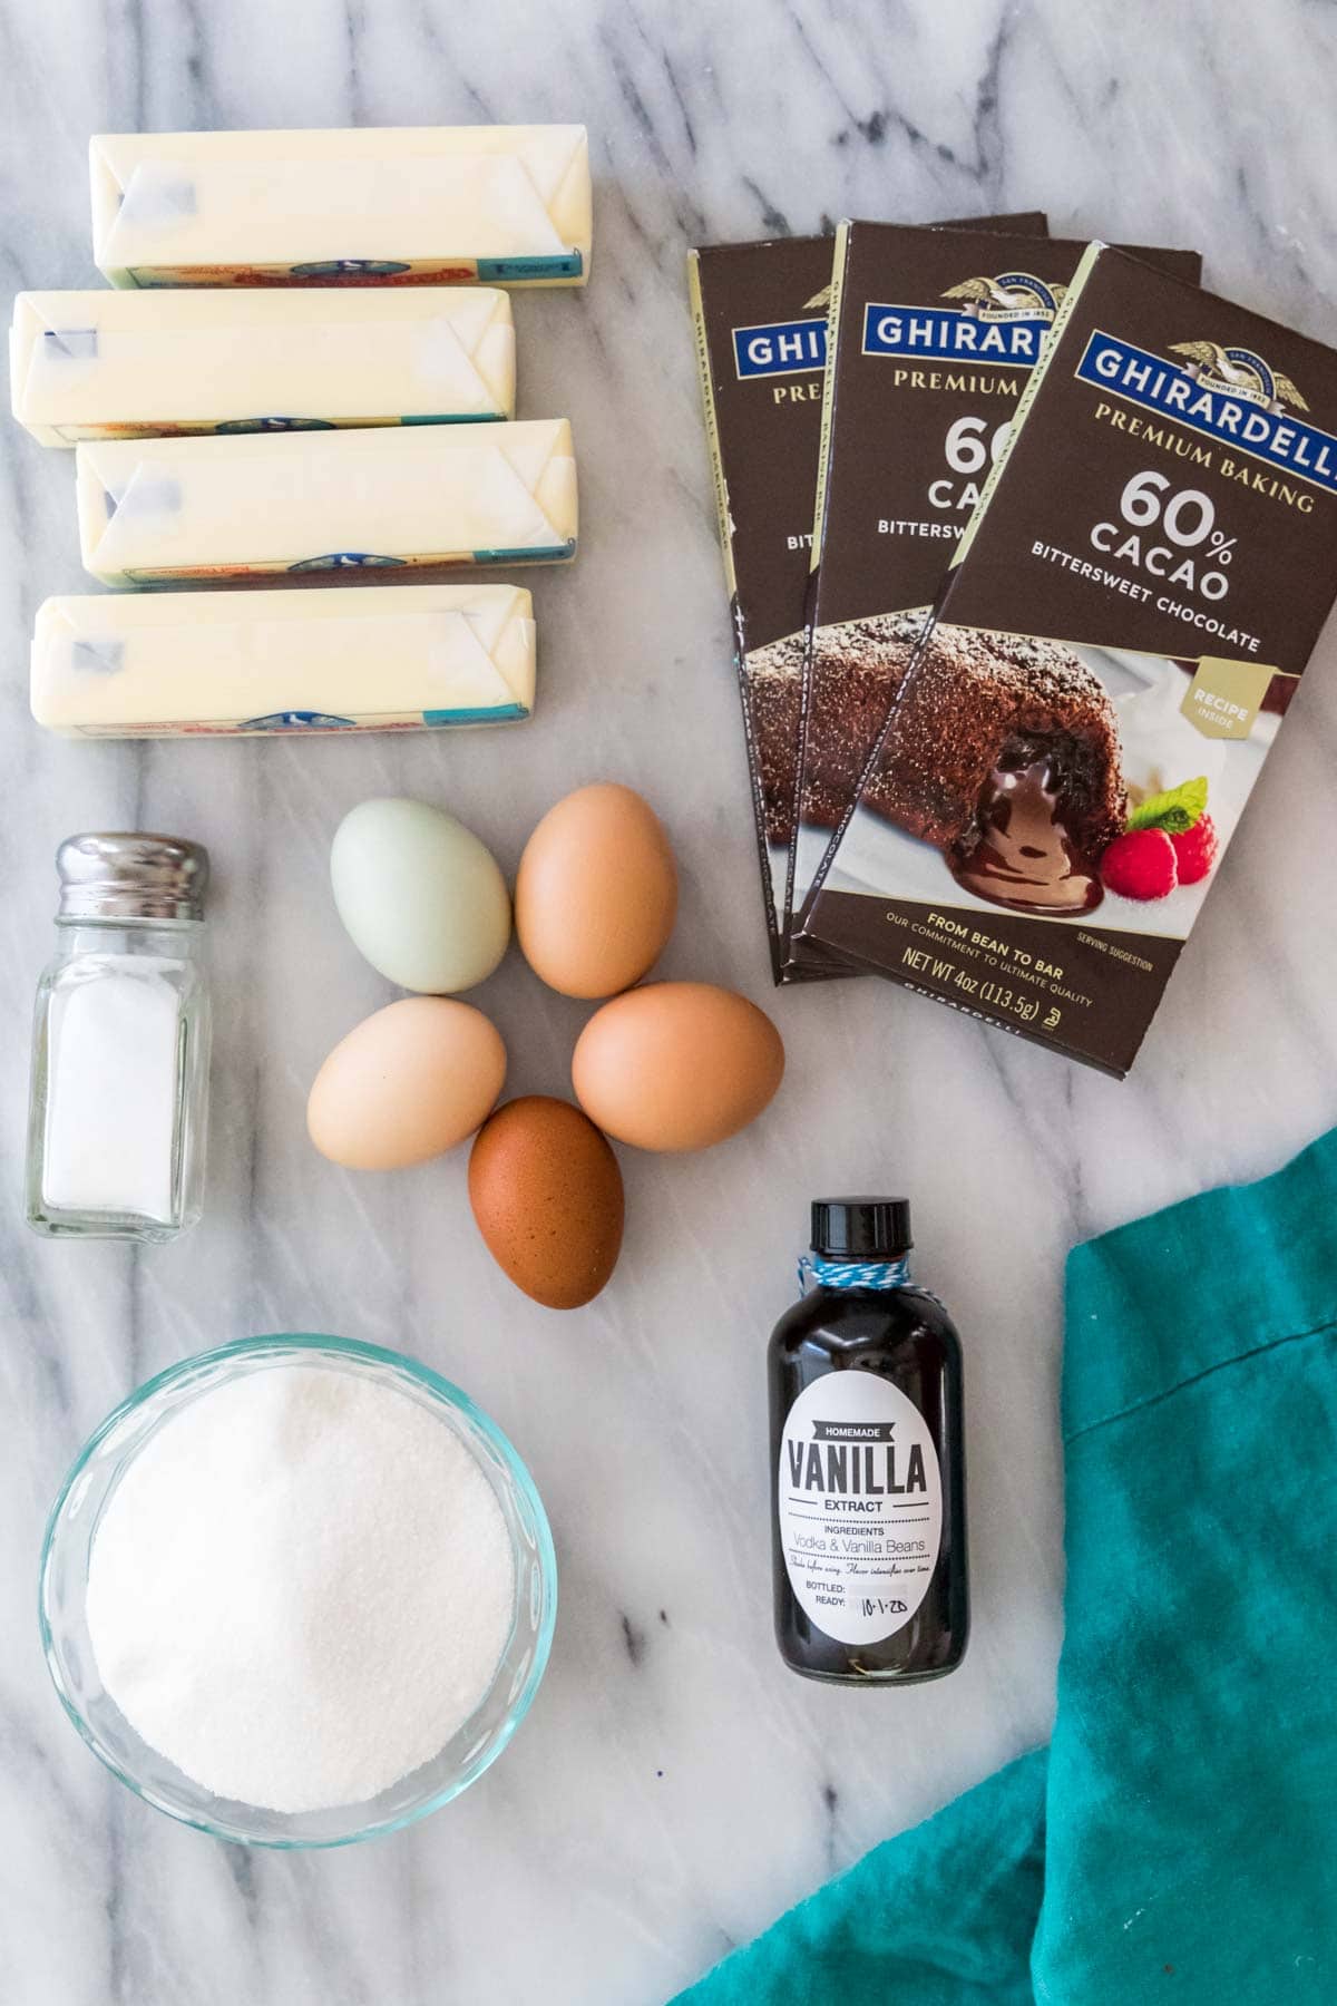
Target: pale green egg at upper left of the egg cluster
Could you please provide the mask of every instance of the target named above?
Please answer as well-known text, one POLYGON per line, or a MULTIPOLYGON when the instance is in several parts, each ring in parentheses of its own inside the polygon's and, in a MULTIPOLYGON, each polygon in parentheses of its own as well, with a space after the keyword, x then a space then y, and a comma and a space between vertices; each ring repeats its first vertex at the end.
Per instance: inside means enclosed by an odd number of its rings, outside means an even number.
POLYGON ((485 981, 511 939, 511 901, 491 851, 425 800, 363 800, 329 853, 335 905, 367 961, 425 995, 485 981))

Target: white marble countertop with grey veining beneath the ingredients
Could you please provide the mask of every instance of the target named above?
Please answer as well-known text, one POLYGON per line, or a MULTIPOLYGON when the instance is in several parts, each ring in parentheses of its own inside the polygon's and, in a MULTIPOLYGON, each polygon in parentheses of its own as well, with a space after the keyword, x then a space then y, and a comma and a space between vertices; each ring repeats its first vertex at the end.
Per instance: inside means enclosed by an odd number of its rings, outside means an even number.
MULTIPOLYGON (((768 1003, 684 253, 840 217, 1048 209, 1193 243, 1209 281, 1333 333, 1337 14, 1185 0, 94 0, 0 10, 0 283, 90 285, 92 130, 581 118, 585 293, 523 295, 521 413, 569 413, 581 558, 537 572, 533 724, 453 740, 90 746, 26 714, 38 600, 84 590, 72 461, 0 445, 0 1956, 6 2006, 655 2006, 872 1842, 1040 1741, 1060 1637, 1064 1248, 1251 1176, 1337 1117, 1337 662, 1315 662, 1125 1085, 874 981, 774 999, 782 1099, 696 1159, 625 1155, 621 1268, 587 1312, 515 1296, 463 1155, 355 1178, 305 1139, 329 1045, 389 989, 335 919, 365 794, 439 800, 513 867, 589 778, 643 788, 684 907, 663 971, 768 1003), (204 1224, 174 1248, 20 1224, 30 991, 52 851, 88 826, 208 843, 218 1047, 204 1224), (762 1360, 806 1204, 912 1196, 968 1352, 974 1643, 900 1697, 786 1673, 770 1639, 762 1360), (561 1613, 505 1759, 411 1833, 279 1858, 116 1785, 34 1621, 44 1513, 102 1412, 263 1330, 403 1346, 463 1382, 547 1500, 561 1613)), ((8 309, 8 303, 6 303, 8 309)), ((511 1087, 563 1091, 583 1011, 515 955, 481 993, 511 1087)), ((814 2002, 818 2006, 818 2002, 814 2002)))

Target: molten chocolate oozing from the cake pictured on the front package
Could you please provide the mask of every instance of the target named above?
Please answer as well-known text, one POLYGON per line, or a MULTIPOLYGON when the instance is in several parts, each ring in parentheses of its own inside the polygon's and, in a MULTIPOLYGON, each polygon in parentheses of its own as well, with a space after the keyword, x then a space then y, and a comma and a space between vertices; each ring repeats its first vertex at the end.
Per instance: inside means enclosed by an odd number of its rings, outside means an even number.
POLYGON ((1100 877, 1068 826, 1068 796, 1052 746, 1012 740, 988 776, 978 841, 948 853, 956 883, 1016 913, 1068 917, 1100 905, 1100 877))

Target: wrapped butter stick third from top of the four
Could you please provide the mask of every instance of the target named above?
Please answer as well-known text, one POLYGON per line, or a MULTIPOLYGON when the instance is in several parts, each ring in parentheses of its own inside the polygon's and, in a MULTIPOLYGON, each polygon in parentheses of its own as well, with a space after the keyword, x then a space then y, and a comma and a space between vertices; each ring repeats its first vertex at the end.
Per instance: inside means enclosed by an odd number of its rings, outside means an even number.
POLYGON ((78 538, 108 586, 575 556, 565 417, 76 447, 78 538))

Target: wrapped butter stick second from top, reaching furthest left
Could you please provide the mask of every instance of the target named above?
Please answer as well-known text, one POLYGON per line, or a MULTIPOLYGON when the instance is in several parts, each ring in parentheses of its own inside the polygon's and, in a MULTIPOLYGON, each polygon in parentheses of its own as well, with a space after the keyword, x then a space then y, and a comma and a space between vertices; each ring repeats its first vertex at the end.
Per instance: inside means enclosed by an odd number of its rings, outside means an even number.
POLYGON ((439 285, 20 293, 10 391, 44 445, 509 417, 511 301, 439 285))

